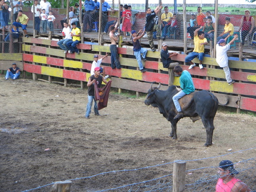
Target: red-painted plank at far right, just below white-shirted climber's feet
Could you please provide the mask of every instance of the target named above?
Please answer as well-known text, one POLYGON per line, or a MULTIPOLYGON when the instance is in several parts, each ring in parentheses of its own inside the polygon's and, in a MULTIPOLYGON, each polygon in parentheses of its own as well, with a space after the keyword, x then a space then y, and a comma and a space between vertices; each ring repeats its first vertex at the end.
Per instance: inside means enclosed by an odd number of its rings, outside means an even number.
POLYGON ((233 93, 241 95, 256 95, 256 84, 234 83, 233 93))

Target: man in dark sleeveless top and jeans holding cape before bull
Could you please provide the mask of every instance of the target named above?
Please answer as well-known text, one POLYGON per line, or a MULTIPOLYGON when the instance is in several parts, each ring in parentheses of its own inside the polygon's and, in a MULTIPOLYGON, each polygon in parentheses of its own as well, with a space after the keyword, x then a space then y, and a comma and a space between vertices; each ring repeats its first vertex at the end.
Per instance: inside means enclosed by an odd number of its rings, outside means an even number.
POLYGON ((89 119, 89 114, 91 114, 91 107, 92 107, 92 101, 94 100, 94 114, 95 116, 100 116, 98 112, 98 105, 95 101, 94 97, 94 86, 97 85, 98 88, 101 87, 102 82, 107 84, 107 81, 103 78, 103 76, 100 75, 101 69, 99 67, 96 67, 94 69, 94 75, 89 77, 89 81, 87 82, 88 87, 88 104, 87 104, 87 111, 85 113, 85 118, 89 119))

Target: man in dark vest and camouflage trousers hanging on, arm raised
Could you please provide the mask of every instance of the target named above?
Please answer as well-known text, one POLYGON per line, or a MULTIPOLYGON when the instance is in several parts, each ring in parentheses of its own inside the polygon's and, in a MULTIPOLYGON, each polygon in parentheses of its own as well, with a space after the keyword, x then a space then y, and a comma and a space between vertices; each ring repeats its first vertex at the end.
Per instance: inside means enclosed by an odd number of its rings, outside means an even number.
POLYGON ((162 2, 158 7, 155 8, 155 10, 151 11, 151 8, 147 8, 146 11, 146 24, 145 24, 145 29, 146 29, 146 34, 148 37, 148 42, 149 46, 151 47, 152 52, 155 52, 155 44, 153 44, 153 32, 156 31, 156 39, 160 39, 161 36, 161 30, 158 26, 158 24, 155 24, 155 17, 156 14, 158 14, 159 11, 162 9, 162 2))

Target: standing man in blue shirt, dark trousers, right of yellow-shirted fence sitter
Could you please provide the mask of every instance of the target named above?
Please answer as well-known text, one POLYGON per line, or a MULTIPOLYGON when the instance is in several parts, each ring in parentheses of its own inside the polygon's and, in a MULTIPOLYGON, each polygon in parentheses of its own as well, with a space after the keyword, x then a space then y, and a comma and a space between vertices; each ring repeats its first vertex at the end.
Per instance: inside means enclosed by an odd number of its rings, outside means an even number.
POLYGON ((94 18, 92 16, 94 15, 94 10, 97 8, 97 5, 95 4, 94 1, 92 0, 86 0, 84 2, 84 7, 85 7, 85 14, 84 14, 84 32, 91 32, 93 28, 92 22, 94 21, 94 18), (87 30, 87 24, 89 25, 89 29, 87 30))

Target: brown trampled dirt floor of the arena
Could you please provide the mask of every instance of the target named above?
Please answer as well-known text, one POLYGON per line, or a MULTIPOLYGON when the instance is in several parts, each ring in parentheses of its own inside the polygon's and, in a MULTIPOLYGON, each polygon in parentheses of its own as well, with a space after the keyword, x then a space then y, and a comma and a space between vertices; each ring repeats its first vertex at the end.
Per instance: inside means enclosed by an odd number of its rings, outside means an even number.
MULTIPOLYGON (((201 120, 180 120, 178 139, 173 140, 169 137, 171 124, 158 108, 146 106, 144 99, 111 92, 108 107, 100 110, 101 116, 94 116, 92 111, 91 119, 85 119, 87 89, 30 79, 4 81, 1 77, 0 191, 24 191, 101 172, 208 158, 255 147, 254 116, 218 111, 214 144, 206 148, 201 120)), ((255 156, 254 149, 187 163, 187 169, 216 167, 223 158, 238 162, 255 156)), ((172 167, 74 180, 71 191, 97 191, 147 181, 171 174, 172 167)))

